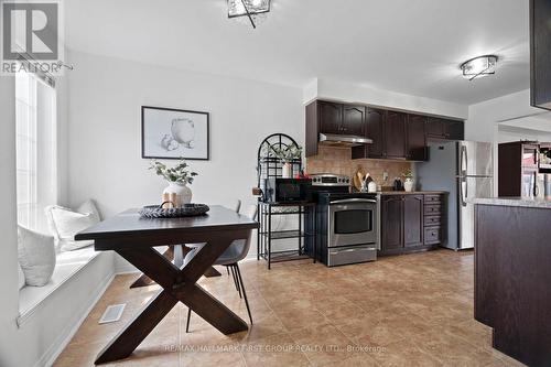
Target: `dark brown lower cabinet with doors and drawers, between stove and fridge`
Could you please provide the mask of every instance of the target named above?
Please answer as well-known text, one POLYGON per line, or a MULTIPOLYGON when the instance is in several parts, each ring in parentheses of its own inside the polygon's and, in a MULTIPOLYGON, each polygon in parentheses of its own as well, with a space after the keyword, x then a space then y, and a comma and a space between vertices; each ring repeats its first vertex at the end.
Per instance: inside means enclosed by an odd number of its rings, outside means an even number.
POLYGON ((382 194, 379 255, 399 255, 437 247, 444 238, 445 222, 440 215, 443 203, 443 194, 382 194))

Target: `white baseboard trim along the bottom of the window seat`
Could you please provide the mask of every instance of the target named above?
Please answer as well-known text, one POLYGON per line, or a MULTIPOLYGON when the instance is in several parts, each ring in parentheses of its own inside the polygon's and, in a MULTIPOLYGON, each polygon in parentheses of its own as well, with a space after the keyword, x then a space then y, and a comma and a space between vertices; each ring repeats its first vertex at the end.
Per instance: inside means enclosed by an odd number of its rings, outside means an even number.
POLYGON ((80 325, 84 323, 84 321, 86 320, 88 314, 91 312, 91 310, 94 309, 96 303, 101 299, 105 291, 107 290, 107 288, 109 288, 109 285, 111 284, 112 280, 115 279, 116 276, 117 276, 116 273, 110 273, 108 277, 104 278, 104 280, 100 282, 99 287, 97 287, 95 290, 96 296, 90 302, 88 307, 86 307, 86 310, 83 313, 83 315, 80 316, 80 319, 78 319, 78 322, 69 325, 69 327, 67 327, 68 331, 66 331, 66 332, 64 331, 60 334, 61 341, 60 342, 56 341, 55 343, 53 343, 52 346, 46 350, 46 353, 44 353, 42 358, 40 358, 39 361, 36 361, 34 367, 43 367, 43 366, 53 366, 54 365, 57 357, 60 357, 62 352, 67 347, 67 345, 69 344, 73 336, 75 336, 76 332, 78 332, 78 328, 80 328, 80 325), (52 350, 52 349, 54 349, 54 350, 52 350))

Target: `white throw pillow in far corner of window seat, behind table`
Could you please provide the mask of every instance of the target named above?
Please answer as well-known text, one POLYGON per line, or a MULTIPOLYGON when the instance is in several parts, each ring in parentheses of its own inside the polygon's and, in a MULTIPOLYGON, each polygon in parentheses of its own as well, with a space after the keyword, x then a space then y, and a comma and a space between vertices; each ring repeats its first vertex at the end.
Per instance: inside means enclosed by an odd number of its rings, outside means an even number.
POLYGON ((99 212, 93 201, 87 201, 76 211, 57 205, 48 206, 46 208, 46 216, 61 251, 72 251, 94 244, 91 240, 75 240, 77 233, 100 220, 99 212))

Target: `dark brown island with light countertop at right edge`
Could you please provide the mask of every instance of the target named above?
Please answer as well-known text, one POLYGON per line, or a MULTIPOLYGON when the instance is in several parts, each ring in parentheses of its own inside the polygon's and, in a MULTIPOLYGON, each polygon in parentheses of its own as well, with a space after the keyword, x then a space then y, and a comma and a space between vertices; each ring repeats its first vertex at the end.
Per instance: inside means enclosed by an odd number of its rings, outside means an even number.
POLYGON ((494 348, 551 366, 551 201, 478 198, 475 204, 475 319, 494 348))

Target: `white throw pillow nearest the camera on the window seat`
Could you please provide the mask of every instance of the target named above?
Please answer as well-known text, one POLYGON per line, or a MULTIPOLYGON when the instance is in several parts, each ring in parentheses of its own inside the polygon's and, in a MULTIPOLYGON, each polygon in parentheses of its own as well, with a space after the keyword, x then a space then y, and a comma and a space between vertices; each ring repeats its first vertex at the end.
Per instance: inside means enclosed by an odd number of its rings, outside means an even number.
POLYGON ((18 258, 26 285, 46 284, 55 268, 54 238, 18 226, 18 258))

